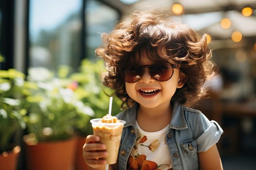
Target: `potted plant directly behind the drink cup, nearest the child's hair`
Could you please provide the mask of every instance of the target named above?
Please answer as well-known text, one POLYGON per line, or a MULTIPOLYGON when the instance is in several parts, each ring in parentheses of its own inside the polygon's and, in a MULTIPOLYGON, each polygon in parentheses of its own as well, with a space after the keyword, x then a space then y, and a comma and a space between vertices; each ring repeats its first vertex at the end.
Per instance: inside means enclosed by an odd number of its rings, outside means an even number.
MULTIPOLYGON (((113 91, 102 85, 101 75, 104 73, 104 64, 102 60, 90 61, 84 59, 81 62, 79 72, 70 75, 70 78, 77 83, 74 91, 78 95, 79 101, 92 108, 95 115, 92 118, 102 118, 108 112, 109 96, 113 91)), ((120 112, 121 101, 117 98, 113 99, 112 113, 113 115, 120 112)), ((82 146, 88 134, 92 134, 92 128, 87 118, 79 115, 75 130, 78 134, 77 152, 76 152, 76 170, 86 170, 87 166, 82 158, 82 146)))

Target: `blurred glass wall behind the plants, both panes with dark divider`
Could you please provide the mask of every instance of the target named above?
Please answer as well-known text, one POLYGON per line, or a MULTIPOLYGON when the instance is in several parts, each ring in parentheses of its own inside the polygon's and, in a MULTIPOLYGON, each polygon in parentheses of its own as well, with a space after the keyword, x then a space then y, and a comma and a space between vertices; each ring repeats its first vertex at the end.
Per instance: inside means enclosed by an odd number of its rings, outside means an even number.
POLYGON ((110 33, 119 17, 98 0, 30 0, 29 67, 69 65, 75 71, 82 58, 97 59, 100 35, 110 33))

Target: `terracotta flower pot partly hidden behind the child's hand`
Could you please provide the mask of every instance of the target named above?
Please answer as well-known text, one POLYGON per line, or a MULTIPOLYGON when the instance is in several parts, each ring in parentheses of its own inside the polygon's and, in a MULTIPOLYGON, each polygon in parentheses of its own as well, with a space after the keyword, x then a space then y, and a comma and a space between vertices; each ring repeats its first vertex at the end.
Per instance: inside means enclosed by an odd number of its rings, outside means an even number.
POLYGON ((89 170, 88 165, 83 160, 82 147, 85 143, 83 136, 78 136, 78 142, 76 147, 76 158, 75 158, 75 170, 89 170))

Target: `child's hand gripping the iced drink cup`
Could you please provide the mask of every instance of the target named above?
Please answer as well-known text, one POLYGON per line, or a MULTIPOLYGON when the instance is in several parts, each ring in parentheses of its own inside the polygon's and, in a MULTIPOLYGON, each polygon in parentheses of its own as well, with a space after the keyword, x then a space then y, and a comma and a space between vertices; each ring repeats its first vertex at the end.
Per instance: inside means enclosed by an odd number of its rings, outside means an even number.
POLYGON ((92 168, 101 168, 106 164, 104 157, 108 155, 106 145, 98 143, 99 136, 88 135, 83 145, 83 159, 92 168))

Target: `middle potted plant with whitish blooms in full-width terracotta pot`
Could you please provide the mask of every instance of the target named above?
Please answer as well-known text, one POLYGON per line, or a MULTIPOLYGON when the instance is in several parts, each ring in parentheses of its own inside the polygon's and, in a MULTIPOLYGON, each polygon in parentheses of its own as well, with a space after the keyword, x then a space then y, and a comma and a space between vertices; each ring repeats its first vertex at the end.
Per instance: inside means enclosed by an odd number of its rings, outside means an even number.
POLYGON ((77 141, 74 127, 79 115, 89 121, 93 110, 79 101, 74 91, 76 82, 68 77, 69 72, 67 66, 61 66, 57 75, 46 68, 28 70, 26 88, 30 96, 26 101, 30 108, 25 121, 29 134, 24 136, 24 141, 29 170, 74 167, 77 141))

